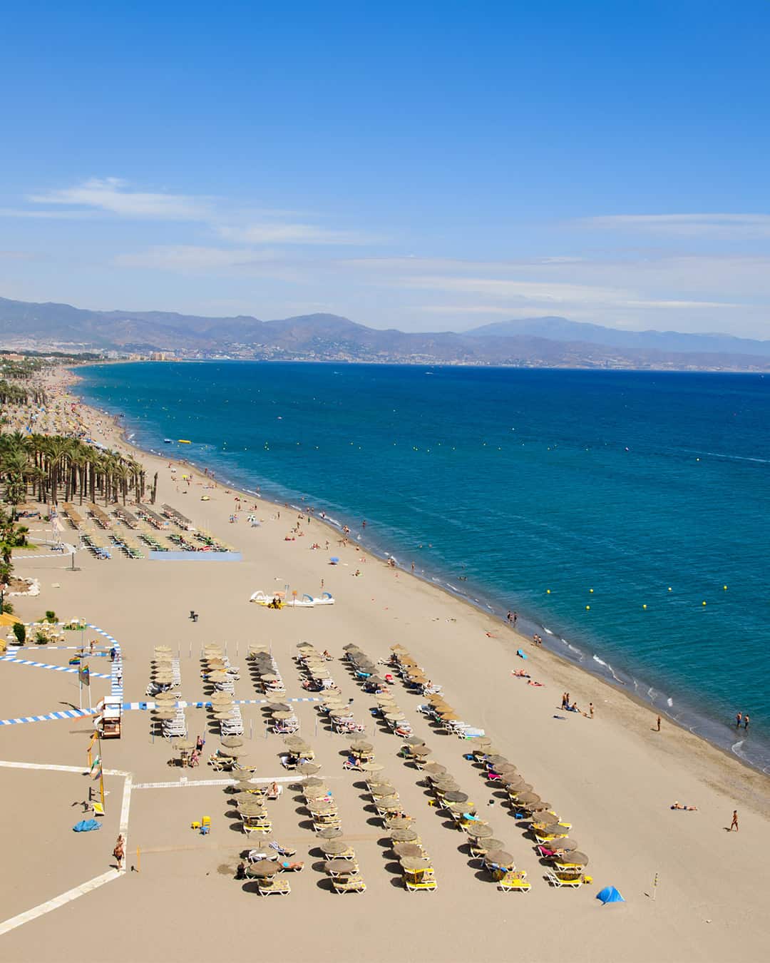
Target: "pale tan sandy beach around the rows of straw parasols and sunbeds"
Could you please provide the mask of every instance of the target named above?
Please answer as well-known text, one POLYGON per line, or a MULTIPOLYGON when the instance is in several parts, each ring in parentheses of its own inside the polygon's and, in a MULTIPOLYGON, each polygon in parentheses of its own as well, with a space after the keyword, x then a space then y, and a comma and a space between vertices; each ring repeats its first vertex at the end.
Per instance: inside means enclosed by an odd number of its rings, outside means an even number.
MULTIPOLYGON (((95 440, 129 451, 107 416, 81 403, 73 411, 66 373, 53 377, 55 399, 37 430, 81 424, 95 440)), ((202 647, 226 647, 231 664, 241 666, 236 697, 251 700, 242 706, 245 763, 256 767, 257 777, 283 780, 283 794, 269 803, 272 836, 296 848, 305 868, 289 874, 287 898, 263 899, 252 883, 236 881, 240 854, 254 844, 228 802, 226 777, 203 760, 194 770, 169 767, 174 753, 153 735, 146 711, 127 710, 122 738, 103 742, 105 773, 113 773, 106 775, 107 814, 103 828, 87 834, 71 827, 82 818, 77 803, 88 793, 89 778, 82 773, 90 718, 0 725, 0 785, 9 800, 0 960, 69 961, 83 954, 86 941, 89 951, 116 963, 210 960, 241 945, 269 960, 338 963, 492 957, 546 963, 565 956, 578 963, 753 963, 766 957, 770 924, 763 904, 770 869, 760 854, 770 844, 767 777, 667 720, 657 732, 649 708, 355 543, 341 546, 340 534, 320 519, 304 513, 300 518, 285 505, 255 503, 253 496, 212 487, 210 478, 189 466, 131 451, 148 478, 158 473, 159 505, 177 508, 243 560, 129 560, 114 552, 102 561, 78 551, 71 570, 68 557, 44 547, 50 523, 36 521, 30 528, 38 548, 15 552, 13 560, 15 574, 39 580, 40 593, 13 598, 14 610, 25 622, 46 610, 61 619, 84 618, 116 638, 125 703, 145 698, 155 645, 167 644, 179 658, 189 702, 204 697, 202 647), (201 501, 204 495, 209 501, 201 501), (237 521, 231 522, 234 513, 237 521), (252 525, 248 514, 259 524, 252 525), (303 534, 287 540, 298 522, 303 534), (312 549, 314 543, 321 548, 312 549), (330 564, 332 556, 340 564, 330 564), (280 611, 249 603, 257 590, 271 594, 284 586, 299 596, 318 595, 322 586, 336 603, 280 611), (191 610, 198 612, 197 622, 190 620, 191 610), (416 820, 436 872, 436 892, 404 890, 361 774, 343 768, 346 738, 322 724, 316 702, 302 701, 293 704, 300 733, 321 763, 367 884, 363 895, 339 898, 329 891, 308 814, 293 789, 296 780, 280 764, 282 739, 266 730, 264 706, 256 701, 264 694, 255 689, 245 658, 249 644, 268 644, 287 698, 312 697, 317 693, 301 688, 295 663, 301 641, 331 654, 331 673, 353 699, 375 761, 416 820), (589 856, 592 883, 574 892, 549 885, 526 824, 503 805, 482 769, 464 758, 467 743, 437 731, 418 712, 424 697, 397 680, 392 690, 415 735, 431 749, 430 758, 470 795, 532 884, 526 894, 502 893, 469 855, 466 835, 431 804, 424 773, 399 756, 403 742, 372 716, 373 696, 356 684, 344 661, 343 646, 351 642, 374 661, 390 658, 396 643, 405 646, 463 720, 483 729, 535 792, 573 824, 571 836, 589 856), (517 658, 519 648, 526 662, 517 658), (528 680, 511 674, 523 667, 528 680), (593 704, 594 717, 562 712, 565 691, 581 710, 593 704), (8 765, 19 763, 30 768, 8 765), (675 800, 697 811, 674 811, 675 800), (728 832, 734 809, 740 831, 728 832), (205 836, 191 829, 203 815, 212 822, 205 836), (84 887, 110 873, 121 824, 126 872, 84 887), (626 901, 603 906, 596 895, 607 885, 626 901), (49 903, 64 893, 69 896, 63 905, 49 903)), ((64 540, 77 542, 77 534, 69 530, 64 540)), ((102 652, 110 648, 109 639, 92 630, 86 638, 95 639, 102 652)), ((28 643, 19 658, 64 666, 69 655, 28 643)), ((109 662, 95 658, 92 670, 106 675, 109 662)), ((71 673, 0 661, 0 678, 3 719, 77 705, 71 673)), ((94 700, 107 690, 108 680, 93 680, 94 700)), ((205 735, 205 760, 218 748, 217 724, 203 709, 187 709, 186 719, 193 739, 205 735)))

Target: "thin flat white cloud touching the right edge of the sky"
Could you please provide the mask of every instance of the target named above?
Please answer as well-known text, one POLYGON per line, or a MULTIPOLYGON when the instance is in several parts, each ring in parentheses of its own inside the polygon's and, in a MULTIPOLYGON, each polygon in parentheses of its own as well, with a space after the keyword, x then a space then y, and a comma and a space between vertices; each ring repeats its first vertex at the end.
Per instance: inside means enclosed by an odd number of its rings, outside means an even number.
POLYGON ((686 238, 732 241, 770 238, 770 214, 615 214, 583 218, 578 224, 601 230, 640 230, 686 238))

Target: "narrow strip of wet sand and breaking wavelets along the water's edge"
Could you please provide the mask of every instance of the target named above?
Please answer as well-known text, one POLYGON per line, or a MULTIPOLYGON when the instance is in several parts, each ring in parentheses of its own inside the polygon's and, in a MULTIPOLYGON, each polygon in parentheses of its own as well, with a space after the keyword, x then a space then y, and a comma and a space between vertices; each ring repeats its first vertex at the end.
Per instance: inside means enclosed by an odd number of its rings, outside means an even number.
MULTIPOLYGON (((91 365, 88 365, 88 366, 84 365, 84 367, 91 367, 91 365)), ((73 370, 68 368, 66 369, 66 371, 68 371, 73 377, 73 380, 70 382, 70 385, 74 389, 77 383, 79 383, 83 379, 77 376, 76 369, 73 370)), ((76 393, 76 392, 73 391, 73 393, 76 393)), ((292 495, 290 493, 290 495, 288 496, 289 497, 288 502, 283 501, 279 503, 278 501, 276 501, 277 493, 269 492, 267 496, 263 495, 261 491, 261 488, 262 488, 261 485, 259 486, 260 491, 254 491, 253 489, 250 489, 247 486, 245 486, 244 483, 241 481, 225 479, 218 475, 213 475, 211 466, 197 463, 187 458, 171 458, 168 455, 165 455, 164 452, 155 451, 152 448, 144 449, 140 445, 136 444, 135 441, 129 439, 127 434, 129 426, 125 425, 122 417, 114 414, 113 412, 107 409, 95 407, 94 405, 83 400, 82 397, 79 395, 76 395, 76 397, 79 398, 79 403, 83 405, 83 407, 89 409, 94 413, 98 413, 98 415, 103 418, 108 419, 112 425, 114 432, 116 433, 116 436, 120 439, 122 444, 125 445, 128 449, 130 449, 133 453, 135 453, 140 460, 142 457, 153 457, 153 458, 162 459, 164 461, 175 462, 179 465, 184 465, 189 469, 191 469, 192 472, 194 472, 200 480, 206 479, 208 481, 211 481, 211 480, 217 481, 218 484, 226 485, 229 489, 231 489, 233 492, 238 493, 239 495, 245 495, 248 498, 258 499, 261 504, 264 504, 265 506, 269 506, 270 508, 280 509, 282 507, 288 507, 288 508, 295 508, 295 510, 299 512, 307 511, 307 508, 304 507, 303 505, 293 504, 292 498, 298 499, 298 496, 296 494, 292 495), (204 474, 204 470, 208 470, 208 474, 204 474)), ((132 434, 131 437, 133 438, 134 435, 132 434)), ((176 450, 174 451, 176 454, 176 450)), ((276 484, 276 483, 272 482, 272 484, 276 484)), ((270 485, 270 482, 268 483, 268 488, 269 488, 269 485, 270 485)), ((335 536, 339 536, 343 534, 343 525, 346 524, 345 522, 329 520, 327 517, 321 518, 321 516, 317 513, 313 515, 313 520, 314 520, 314 523, 316 524, 324 525, 335 536)), ((391 558, 393 559, 396 558, 391 552, 389 552, 384 547, 382 547, 381 549, 377 549, 372 547, 372 545, 366 544, 364 541, 360 540, 360 536, 354 539, 351 539, 350 545, 355 546, 355 548, 360 552, 362 552, 363 554, 370 556, 372 560, 386 562, 391 558)), ((617 694, 625 696, 634 705, 638 706, 641 709, 646 710, 647 712, 659 714, 660 716, 665 718, 665 720, 669 724, 676 725, 682 733, 687 733, 689 736, 704 742, 709 748, 716 750, 718 753, 724 756, 726 760, 735 762, 739 764, 742 768, 746 768, 750 772, 756 773, 760 777, 765 777, 765 778, 770 777, 770 764, 768 764, 766 760, 762 759, 760 761, 755 762, 750 758, 744 758, 741 755, 738 755, 738 753, 736 753, 732 747, 736 743, 732 742, 729 738, 727 738, 727 735, 725 737, 724 742, 720 743, 716 738, 716 735, 709 736, 705 732, 699 731, 699 730, 707 729, 709 728, 709 726, 718 727, 721 725, 721 723, 719 723, 715 719, 710 718, 708 716, 699 715, 695 710, 690 708, 686 704, 686 702, 683 705, 680 712, 678 712, 676 715, 672 714, 670 712, 670 707, 668 707, 665 704, 665 700, 666 700, 665 695, 661 693, 656 693, 657 697, 661 700, 658 703, 655 701, 655 698, 648 697, 639 691, 639 689, 656 691, 655 687, 651 686, 648 683, 645 683, 644 680, 639 680, 634 676, 630 675, 629 672, 627 672, 626 669, 624 668, 618 669, 620 676, 617 675, 613 666, 607 663, 604 663, 602 661, 597 661, 596 656, 589 655, 588 652, 583 651, 582 649, 579 649, 577 646, 573 646, 572 643, 568 642, 566 638, 563 638, 553 633, 545 625, 545 623, 541 619, 539 619, 537 616, 533 617, 532 615, 528 615, 528 616, 522 617, 520 615, 520 622, 523 623, 523 627, 526 627, 526 630, 528 632, 528 634, 525 634, 524 632, 521 631, 521 628, 514 629, 508 626, 502 609, 499 607, 496 608, 494 604, 490 604, 490 602, 494 603, 495 601, 494 599, 489 599, 488 601, 482 602, 478 599, 472 598, 471 596, 462 592, 460 589, 457 589, 456 587, 451 586, 445 579, 442 578, 441 572, 436 572, 435 573, 436 577, 434 578, 434 577, 430 577, 429 575, 421 575, 417 572, 410 572, 407 568, 402 567, 398 563, 398 561, 397 561, 397 567, 402 576, 411 576, 421 585, 429 588, 437 589, 443 595, 446 595, 449 598, 463 605, 468 606, 472 611, 476 612, 477 614, 494 619, 501 628, 505 629, 506 632, 511 634, 510 647, 512 648, 512 653, 511 653, 512 656, 515 657, 515 652, 517 648, 522 648, 524 651, 527 652, 529 657, 531 657, 533 650, 541 654, 548 653, 552 657, 552 659, 557 661, 558 664, 562 664, 565 667, 570 667, 573 670, 578 670, 581 676, 587 676, 592 680, 602 683, 608 689, 612 690, 617 694), (546 637, 543 639, 542 644, 538 646, 536 649, 532 644, 531 637, 532 637, 533 631, 538 633, 543 632, 546 634, 546 637), (576 652, 578 652, 579 657, 578 656, 571 657, 568 653, 561 651, 558 645, 559 641, 563 643, 565 646, 572 648, 576 652), (594 667, 593 663, 596 663, 596 667, 594 667), (626 678, 623 679, 622 676, 625 676, 626 678), (631 687, 634 687, 634 688, 631 688, 631 687), (684 716, 684 717, 681 717, 681 716, 684 716)), ((484 594, 483 590, 479 591, 479 594, 483 596, 484 594)), ((770 787, 770 783, 768 783, 768 786, 770 787)))

